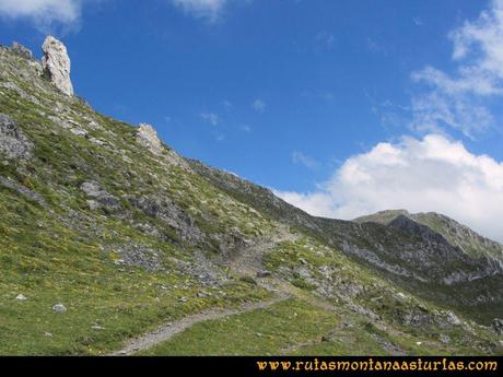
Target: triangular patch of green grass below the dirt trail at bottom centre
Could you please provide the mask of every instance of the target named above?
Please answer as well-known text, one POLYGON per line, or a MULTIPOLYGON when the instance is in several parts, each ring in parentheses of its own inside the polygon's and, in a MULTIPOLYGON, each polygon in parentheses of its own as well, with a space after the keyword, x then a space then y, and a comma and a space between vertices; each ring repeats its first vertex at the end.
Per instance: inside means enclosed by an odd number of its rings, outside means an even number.
MULTIPOLYGON (((338 311, 336 309, 336 311, 338 311)), ((327 311, 301 299, 291 299, 268 309, 199 323, 143 355, 386 355, 382 341, 391 342, 362 318, 344 328, 344 314, 327 311), (341 316, 342 315, 342 316, 341 316), (378 333, 381 339, 374 334, 378 333)), ((394 339, 395 341, 395 339, 394 339)), ((421 350, 411 340, 399 339, 410 353, 421 350)))

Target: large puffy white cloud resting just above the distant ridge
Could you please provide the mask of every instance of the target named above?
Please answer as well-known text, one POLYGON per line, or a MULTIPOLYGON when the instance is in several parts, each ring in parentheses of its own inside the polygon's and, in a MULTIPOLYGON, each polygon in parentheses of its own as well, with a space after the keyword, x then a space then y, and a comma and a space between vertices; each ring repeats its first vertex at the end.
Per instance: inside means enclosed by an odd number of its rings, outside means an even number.
POLYGON ((389 209, 440 212, 503 241, 503 162, 472 154, 440 134, 379 143, 348 158, 315 192, 276 193, 327 217, 389 209))

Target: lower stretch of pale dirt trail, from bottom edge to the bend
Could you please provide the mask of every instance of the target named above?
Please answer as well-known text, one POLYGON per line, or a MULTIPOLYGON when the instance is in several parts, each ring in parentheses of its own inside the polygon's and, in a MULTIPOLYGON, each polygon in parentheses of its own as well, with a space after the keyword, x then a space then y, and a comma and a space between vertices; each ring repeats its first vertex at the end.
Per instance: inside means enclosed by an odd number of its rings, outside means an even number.
POLYGON ((269 301, 262 301, 258 303, 247 303, 237 309, 222 309, 222 308, 210 308, 199 314, 182 318, 168 325, 160 327, 153 332, 149 332, 141 338, 130 340, 127 345, 120 350, 112 353, 112 356, 128 356, 139 351, 144 351, 153 347, 154 345, 169 340, 173 335, 183 332, 184 330, 192 327, 196 323, 203 322, 207 320, 221 319, 229 316, 241 315, 244 313, 264 309, 271 305, 278 304, 282 301, 288 299, 286 295, 278 295, 269 301))

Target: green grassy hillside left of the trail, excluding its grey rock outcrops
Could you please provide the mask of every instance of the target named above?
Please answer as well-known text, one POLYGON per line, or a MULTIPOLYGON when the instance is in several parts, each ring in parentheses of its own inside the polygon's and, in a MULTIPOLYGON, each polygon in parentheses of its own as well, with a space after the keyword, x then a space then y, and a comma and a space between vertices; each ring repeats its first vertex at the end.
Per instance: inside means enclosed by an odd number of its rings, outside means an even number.
MULTIPOLYGON (((40 207, 0 186, 0 354, 103 353, 164 321, 270 295, 237 279, 202 287, 171 259, 192 260, 190 245, 152 237, 133 226, 131 219, 89 211, 79 186, 94 179, 118 198, 126 192, 169 197, 213 233, 237 227, 253 235, 272 226, 199 176, 152 164, 150 153, 136 144, 133 127, 103 117, 78 99, 65 98, 44 81, 37 81, 40 89, 33 90, 30 78, 23 80, 13 68, 23 67, 24 59, 11 55, 1 59, 3 72, 10 74, 2 83, 30 90, 40 105, 23 98, 17 90, 0 89, 0 113, 13 117, 36 145, 30 162, 3 161, 0 174, 42 195, 46 204, 40 207), (81 125, 92 119, 102 128, 90 130, 90 137, 113 146, 74 136, 48 115, 81 125), (130 164, 117 153, 120 150, 130 156, 130 164), (152 178, 155 176, 162 178, 152 178), (226 215, 226 210, 234 216, 226 215), (127 244, 156 250, 164 271, 116 266, 116 249, 127 244), (211 296, 197 297, 201 290, 211 296), (15 301, 17 294, 27 301, 15 301), (180 303, 180 297, 188 301, 180 303), (68 313, 55 314, 51 307, 57 303, 65 304, 68 313), (93 330, 93 326, 104 329, 93 330)), ((132 211, 131 217, 134 223, 156 225, 139 211, 132 211)), ((211 256, 214 250, 207 252, 211 256)))

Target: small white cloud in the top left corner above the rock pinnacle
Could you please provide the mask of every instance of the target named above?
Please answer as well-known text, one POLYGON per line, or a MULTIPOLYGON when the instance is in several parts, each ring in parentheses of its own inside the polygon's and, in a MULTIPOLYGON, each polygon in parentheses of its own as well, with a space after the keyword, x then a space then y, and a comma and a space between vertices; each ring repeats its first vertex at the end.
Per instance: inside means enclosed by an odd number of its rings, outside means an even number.
POLYGON ((0 15, 28 19, 39 28, 54 23, 71 25, 80 20, 84 0, 1 0, 0 15))

